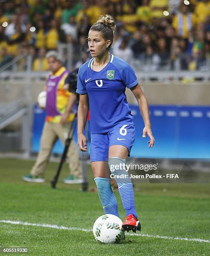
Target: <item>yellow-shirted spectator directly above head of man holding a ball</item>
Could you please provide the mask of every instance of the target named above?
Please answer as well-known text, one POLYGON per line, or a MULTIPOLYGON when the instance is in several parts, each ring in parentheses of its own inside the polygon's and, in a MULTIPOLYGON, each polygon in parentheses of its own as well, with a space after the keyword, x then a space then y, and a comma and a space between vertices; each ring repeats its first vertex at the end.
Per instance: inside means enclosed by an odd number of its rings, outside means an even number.
POLYGON ((56 19, 51 20, 50 30, 46 33, 46 48, 48 50, 57 49, 58 43, 58 30, 56 19))

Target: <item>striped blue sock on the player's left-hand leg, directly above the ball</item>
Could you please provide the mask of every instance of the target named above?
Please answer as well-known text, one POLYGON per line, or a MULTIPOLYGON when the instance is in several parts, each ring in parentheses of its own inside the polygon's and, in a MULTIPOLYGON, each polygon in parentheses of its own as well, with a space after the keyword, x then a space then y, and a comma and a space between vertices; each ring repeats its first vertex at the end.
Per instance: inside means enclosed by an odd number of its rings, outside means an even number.
POLYGON ((119 217, 118 205, 114 192, 111 189, 110 179, 99 177, 95 178, 94 181, 96 182, 99 198, 105 214, 113 214, 119 217))

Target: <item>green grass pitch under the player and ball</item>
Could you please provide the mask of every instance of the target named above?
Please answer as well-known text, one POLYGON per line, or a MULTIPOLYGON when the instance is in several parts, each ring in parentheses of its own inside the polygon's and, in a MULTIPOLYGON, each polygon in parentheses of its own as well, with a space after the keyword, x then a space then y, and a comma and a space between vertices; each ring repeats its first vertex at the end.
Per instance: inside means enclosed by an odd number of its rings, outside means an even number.
MULTIPOLYGON (((0 159, 0 248, 27 247, 28 255, 55 256, 210 255, 209 184, 138 184, 135 202, 142 231, 137 234, 142 236, 129 232, 122 243, 106 245, 97 243, 89 231, 104 214, 97 193, 81 192, 80 185, 62 182, 56 190, 51 189, 58 163, 48 164, 45 183, 23 182, 21 176, 28 174, 32 165, 33 161, 0 159)), ((66 176, 67 164, 60 181, 66 176)), ((89 187, 94 187, 90 168, 89 182, 89 187)), ((119 193, 115 194, 124 220, 119 193)))

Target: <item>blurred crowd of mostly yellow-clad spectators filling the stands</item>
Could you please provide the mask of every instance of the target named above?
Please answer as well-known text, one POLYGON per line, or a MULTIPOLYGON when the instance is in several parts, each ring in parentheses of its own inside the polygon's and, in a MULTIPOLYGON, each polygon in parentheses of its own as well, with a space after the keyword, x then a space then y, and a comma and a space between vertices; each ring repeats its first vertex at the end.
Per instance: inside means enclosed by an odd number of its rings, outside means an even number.
POLYGON ((76 65, 89 28, 106 13, 117 23, 112 52, 128 63, 148 71, 210 69, 207 0, 2 0, 0 67, 30 53, 32 69, 46 71, 46 52, 59 43, 73 44, 76 65))

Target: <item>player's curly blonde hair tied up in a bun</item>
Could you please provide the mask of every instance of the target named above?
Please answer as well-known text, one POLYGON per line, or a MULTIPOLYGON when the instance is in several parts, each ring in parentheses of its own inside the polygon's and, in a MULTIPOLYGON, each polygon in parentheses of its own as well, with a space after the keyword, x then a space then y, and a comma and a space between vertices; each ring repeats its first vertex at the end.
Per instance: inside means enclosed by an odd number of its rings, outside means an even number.
POLYGON ((114 18, 111 15, 101 15, 99 19, 94 23, 90 30, 92 31, 99 31, 101 32, 101 35, 103 36, 104 40, 110 40, 111 44, 108 47, 108 50, 110 49, 112 43, 113 43, 113 38, 114 38, 114 30, 116 28, 116 23, 114 18))

